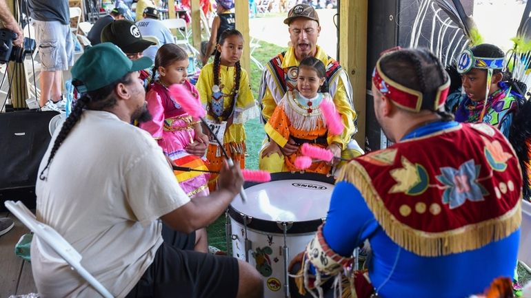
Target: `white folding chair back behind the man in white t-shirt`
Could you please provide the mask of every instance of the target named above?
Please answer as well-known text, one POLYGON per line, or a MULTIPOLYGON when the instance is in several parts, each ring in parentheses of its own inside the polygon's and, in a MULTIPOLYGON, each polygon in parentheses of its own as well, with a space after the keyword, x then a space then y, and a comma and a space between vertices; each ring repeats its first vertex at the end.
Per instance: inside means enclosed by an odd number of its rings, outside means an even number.
POLYGON ((63 236, 59 235, 51 226, 43 224, 37 220, 37 217, 22 202, 6 201, 6 207, 14 216, 16 216, 24 225, 26 225, 39 240, 45 242, 58 255, 60 255, 72 269, 76 270, 81 277, 97 290, 105 298, 113 298, 112 294, 97 281, 88 271, 81 266, 81 255, 68 243, 63 236))

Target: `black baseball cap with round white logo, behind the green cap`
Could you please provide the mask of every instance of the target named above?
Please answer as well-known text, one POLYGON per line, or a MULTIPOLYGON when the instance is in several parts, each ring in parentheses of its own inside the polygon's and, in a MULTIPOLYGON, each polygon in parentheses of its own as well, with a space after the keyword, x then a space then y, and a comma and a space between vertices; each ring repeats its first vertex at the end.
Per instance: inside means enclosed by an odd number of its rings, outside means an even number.
POLYGON ((102 43, 114 43, 127 54, 139 53, 146 50, 154 42, 142 39, 137 25, 128 20, 115 20, 101 30, 102 43))

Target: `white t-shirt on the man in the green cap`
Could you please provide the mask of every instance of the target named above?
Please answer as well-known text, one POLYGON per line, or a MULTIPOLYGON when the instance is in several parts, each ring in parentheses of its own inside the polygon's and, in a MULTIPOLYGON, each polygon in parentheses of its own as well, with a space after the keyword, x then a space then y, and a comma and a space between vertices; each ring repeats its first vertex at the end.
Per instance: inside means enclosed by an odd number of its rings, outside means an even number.
MULTIPOLYGON (((48 180, 37 178, 37 220, 70 242, 114 297, 126 296, 153 262, 159 217, 190 201, 148 132, 107 111, 83 111, 45 173, 48 180)), ((41 297, 98 296, 35 237, 31 258, 41 297)))

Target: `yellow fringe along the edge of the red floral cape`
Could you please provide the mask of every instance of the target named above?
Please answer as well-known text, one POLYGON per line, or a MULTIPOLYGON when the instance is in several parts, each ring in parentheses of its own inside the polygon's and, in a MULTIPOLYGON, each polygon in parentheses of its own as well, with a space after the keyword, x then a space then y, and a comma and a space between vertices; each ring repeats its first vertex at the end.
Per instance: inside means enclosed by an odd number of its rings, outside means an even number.
POLYGON ((428 233, 407 226, 385 208, 372 181, 359 162, 345 164, 337 181, 354 184, 385 233, 399 246, 423 257, 463 253, 508 237, 521 224, 521 200, 504 215, 454 230, 428 233))

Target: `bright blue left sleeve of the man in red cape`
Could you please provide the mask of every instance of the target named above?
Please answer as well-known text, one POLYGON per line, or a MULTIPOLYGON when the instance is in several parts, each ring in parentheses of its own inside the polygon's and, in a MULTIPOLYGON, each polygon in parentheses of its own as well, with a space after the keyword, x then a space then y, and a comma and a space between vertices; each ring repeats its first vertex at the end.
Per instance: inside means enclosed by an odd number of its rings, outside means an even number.
POLYGON ((379 227, 359 190, 350 182, 337 182, 323 227, 332 250, 345 257, 379 227))

